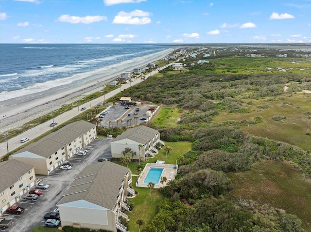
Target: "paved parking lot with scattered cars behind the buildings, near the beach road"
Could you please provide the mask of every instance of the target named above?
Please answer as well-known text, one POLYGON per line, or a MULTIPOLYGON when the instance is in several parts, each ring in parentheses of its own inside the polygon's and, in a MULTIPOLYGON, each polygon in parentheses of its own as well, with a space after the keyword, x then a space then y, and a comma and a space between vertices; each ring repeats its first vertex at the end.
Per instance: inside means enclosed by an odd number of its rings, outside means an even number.
POLYGON ((120 104, 116 104, 115 106, 109 105, 107 108, 101 108, 101 111, 98 113, 97 117, 98 120, 100 120, 101 125, 105 127, 109 127, 109 122, 110 126, 130 126, 134 124, 140 124, 144 123, 145 120, 141 120, 141 118, 146 118, 146 112, 148 109, 152 107, 151 105, 136 105, 134 106, 128 106, 129 109, 125 109, 126 106, 121 106, 120 104), (139 108, 139 111, 136 111, 136 109, 139 108), (105 113, 104 118, 100 118, 100 114, 104 113, 104 111, 109 111, 109 113, 105 113), (137 113, 137 115, 135 115, 137 113), (134 117, 137 117, 134 118, 134 117), (120 122, 122 120, 122 122, 120 122), (129 121, 127 121, 129 120, 129 121), (117 121, 118 124, 117 124, 117 121))

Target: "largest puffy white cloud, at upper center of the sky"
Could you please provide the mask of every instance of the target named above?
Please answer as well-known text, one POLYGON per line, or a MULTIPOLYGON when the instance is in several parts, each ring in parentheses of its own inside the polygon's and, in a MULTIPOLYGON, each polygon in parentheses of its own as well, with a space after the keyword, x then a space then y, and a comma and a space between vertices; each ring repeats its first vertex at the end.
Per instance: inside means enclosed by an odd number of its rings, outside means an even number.
POLYGON ((118 15, 115 16, 112 23, 116 24, 135 24, 143 25, 151 22, 151 19, 148 17, 151 14, 149 12, 135 10, 130 13, 121 11, 118 15))

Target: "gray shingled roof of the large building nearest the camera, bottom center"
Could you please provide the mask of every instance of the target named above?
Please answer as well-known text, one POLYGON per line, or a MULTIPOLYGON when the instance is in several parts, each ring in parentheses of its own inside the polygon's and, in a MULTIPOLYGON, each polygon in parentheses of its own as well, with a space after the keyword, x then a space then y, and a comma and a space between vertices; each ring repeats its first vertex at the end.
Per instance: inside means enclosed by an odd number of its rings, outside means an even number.
POLYGON ((75 177, 58 205, 85 200, 112 210, 128 170, 109 161, 88 165, 75 177))

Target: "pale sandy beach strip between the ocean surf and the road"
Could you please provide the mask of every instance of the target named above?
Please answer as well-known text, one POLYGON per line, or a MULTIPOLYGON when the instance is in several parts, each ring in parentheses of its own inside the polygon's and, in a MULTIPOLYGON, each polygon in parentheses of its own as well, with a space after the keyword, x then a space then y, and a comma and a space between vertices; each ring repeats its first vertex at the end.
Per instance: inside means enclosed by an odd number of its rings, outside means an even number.
MULTIPOLYGON (((69 104, 87 94, 104 88, 105 84, 120 77, 124 71, 132 71, 136 67, 145 67, 172 52, 166 49, 161 52, 124 61, 115 65, 90 72, 86 78, 79 79, 74 75, 70 84, 51 88, 47 91, 27 94, 0 101, 0 133, 18 128, 21 125, 52 112, 64 104, 69 104), (77 80, 75 80, 77 79, 77 80)), ((35 92, 35 91, 34 91, 35 92)))

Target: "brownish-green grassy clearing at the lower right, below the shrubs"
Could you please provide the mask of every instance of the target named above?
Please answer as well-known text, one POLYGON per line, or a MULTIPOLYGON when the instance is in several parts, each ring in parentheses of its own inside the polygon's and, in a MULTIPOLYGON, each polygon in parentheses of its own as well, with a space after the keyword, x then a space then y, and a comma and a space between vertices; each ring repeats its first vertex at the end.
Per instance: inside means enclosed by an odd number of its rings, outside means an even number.
POLYGON ((234 190, 228 198, 246 198, 268 203, 298 216, 311 232, 311 182, 283 162, 263 161, 249 171, 231 173, 234 190))

